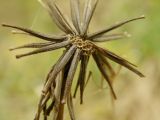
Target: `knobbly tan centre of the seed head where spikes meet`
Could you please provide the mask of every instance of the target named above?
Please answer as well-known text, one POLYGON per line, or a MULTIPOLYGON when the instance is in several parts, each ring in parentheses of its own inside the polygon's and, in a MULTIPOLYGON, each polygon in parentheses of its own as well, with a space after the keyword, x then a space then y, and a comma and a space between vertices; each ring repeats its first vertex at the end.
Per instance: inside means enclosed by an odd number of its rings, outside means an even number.
POLYGON ((79 36, 74 36, 71 38, 71 41, 73 45, 82 50, 84 55, 90 55, 95 51, 93 44, 89 40, 83 40, 79 36))

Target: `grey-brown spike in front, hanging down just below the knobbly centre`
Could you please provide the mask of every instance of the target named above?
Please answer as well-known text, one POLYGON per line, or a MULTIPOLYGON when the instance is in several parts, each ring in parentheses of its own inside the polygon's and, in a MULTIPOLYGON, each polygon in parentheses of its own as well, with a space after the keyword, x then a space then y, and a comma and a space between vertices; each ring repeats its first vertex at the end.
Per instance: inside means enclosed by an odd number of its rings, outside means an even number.
POLYGON ((72 85, 72 81, 73 81, 73 78, 74 78, 74 75, 75 75, 75 72, 76 72, 76 68, 77 68, 77 65, 78 65, 78 62, 79 62, 79 59, 80 59, 80 52, 81 50, 80 49, 77 49, 75 54, 74 54, 74 57, 73 57, 73 60, 72 60, 72 63, 71 63, 71 66, 70 66, 70 69, 69 69, 69 72, 68 72, 68 76, 67 76, 67 80, 66 80, 66 85, 65 85, 65 90, 64 90, 64 96, 62 97, 62 103, 66 103, 66 98, 70 93, 70 90, 71 90, 71 85, 72 85))

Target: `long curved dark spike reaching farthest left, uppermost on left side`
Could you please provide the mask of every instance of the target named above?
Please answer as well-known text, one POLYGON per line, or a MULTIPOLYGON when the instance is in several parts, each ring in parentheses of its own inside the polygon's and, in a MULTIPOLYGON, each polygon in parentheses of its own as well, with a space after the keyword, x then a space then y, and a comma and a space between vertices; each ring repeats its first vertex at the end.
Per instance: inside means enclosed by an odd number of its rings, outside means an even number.
POLYGON ((23 32, 28 33, 31 36, 46 40, 46 41, 51 41, 51 42, 60 42, 64 39, 66 39, 66 36, 54 36, 54 35, 46 35, 40 32, 36 32, 27 28, 23 28, 23 27, 18 27, 18 26, 14 26, 14 25, 8 25, 8 24, 2 24, 3 27, 9 27, 9 28, 14 28, 17 30, 21 30, 23 32))

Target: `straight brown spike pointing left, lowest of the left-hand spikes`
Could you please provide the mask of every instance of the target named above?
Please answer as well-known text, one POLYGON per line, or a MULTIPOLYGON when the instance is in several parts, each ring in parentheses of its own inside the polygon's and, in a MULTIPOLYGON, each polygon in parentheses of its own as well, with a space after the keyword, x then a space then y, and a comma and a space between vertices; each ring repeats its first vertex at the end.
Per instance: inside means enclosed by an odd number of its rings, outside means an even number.
POLYGON ((64 42, 61 42, 61 43, 55 43, 53 45, 49 45, 49 46, 45 46, 45 47, 39 48, 39 49, 34 50, 32 52, 16 55, 16 58, 18 59, 18 58, 22 58, 22 57, 29 56, 29 55, 34 55, 34 54, 38 54, 38 53, 42 53, 42 52, 52 51, 52 50, 55 50, 55 49, 59 49, 59 48, 65 47, 65 46, 69 45, 70 43, 71 43, 70 41, 64 41, 64 42))

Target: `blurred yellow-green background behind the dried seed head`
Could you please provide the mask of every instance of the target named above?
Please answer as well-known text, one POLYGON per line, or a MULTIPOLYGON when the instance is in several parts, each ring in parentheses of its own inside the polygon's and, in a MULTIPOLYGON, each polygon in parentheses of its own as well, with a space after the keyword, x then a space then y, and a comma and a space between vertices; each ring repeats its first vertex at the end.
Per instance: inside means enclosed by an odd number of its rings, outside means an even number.
MULTIPOLYGON (((62 10, 68 10, 69 0, 58 2, 62 10)), ((114 80, 118 99, 113 101, 109 90, 101 89, 100 73, 91 60, 88 69, 93 76, 85 91, 85 102, 81 106, 78 98, 74 101, 77 120, 160 120, 159 11, 159 0, 100 0, 90 32, 127 18, 146 16, 145 20, 117 30, 129 32, 131 38, 100 44, 137 64, 146 77, 141 79, 122 68, 114 80)), ((44 33, 60 32, 37 0, 0 0, 0 23, 44 33)), ((9 52, 8 49, 36 41, 40 40, 13 35, 10 29, 0 27, 0 120, 34 118, 44 79, 62 50, 17 60, 14 55, 27 50, 9 52)), ((69 119, 67 114, 66 110, 65 120, 69 119)))

